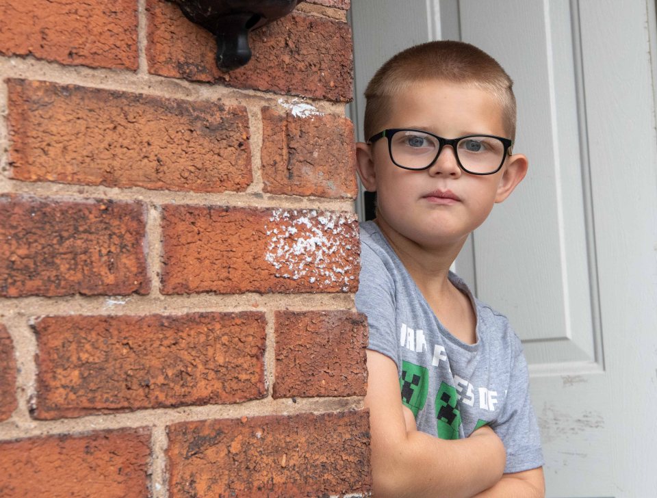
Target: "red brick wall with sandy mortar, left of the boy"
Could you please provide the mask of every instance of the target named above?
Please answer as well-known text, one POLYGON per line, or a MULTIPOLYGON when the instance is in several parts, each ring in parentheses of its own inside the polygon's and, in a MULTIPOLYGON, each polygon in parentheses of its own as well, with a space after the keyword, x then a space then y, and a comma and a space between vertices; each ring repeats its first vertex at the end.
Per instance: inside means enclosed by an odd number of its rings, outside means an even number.
POLYGON ((0 495, 370 491, 348 0, 0 3, 0 495))

